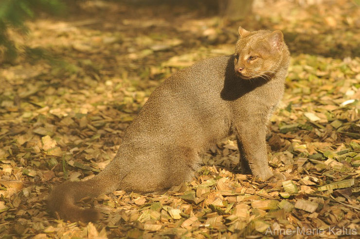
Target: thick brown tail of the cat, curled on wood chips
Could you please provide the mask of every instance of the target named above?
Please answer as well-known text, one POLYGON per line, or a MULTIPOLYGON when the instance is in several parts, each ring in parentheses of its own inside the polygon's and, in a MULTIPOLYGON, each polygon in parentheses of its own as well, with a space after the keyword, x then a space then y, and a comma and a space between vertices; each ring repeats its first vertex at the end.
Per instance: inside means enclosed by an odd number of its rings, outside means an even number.
POLYGON ((57 213, 61 219, 71 222, 95 222, 101 218, 97 210, 81 208, 75 203, 85 197, 94 198, 116 190, 121 181, 120 174, 120 171, 113 171, 111 167, 107 167, 87 181, 64 182, 51 191, 47 205, 50 211, 55 215, 57 213))

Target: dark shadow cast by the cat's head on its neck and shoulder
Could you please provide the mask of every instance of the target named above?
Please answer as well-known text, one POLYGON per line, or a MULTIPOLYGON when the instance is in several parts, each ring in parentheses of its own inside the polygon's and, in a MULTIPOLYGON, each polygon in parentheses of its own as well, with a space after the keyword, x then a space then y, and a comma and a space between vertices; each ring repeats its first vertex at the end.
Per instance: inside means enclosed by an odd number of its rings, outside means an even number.
POLYGON ((268 82, 261 77, 245 80, 237 76, 234 70, 234 57, 235 56, 230 57, 227 63, 224 87, 220 93, 221 99, 225 101, 235 101, 268 82))

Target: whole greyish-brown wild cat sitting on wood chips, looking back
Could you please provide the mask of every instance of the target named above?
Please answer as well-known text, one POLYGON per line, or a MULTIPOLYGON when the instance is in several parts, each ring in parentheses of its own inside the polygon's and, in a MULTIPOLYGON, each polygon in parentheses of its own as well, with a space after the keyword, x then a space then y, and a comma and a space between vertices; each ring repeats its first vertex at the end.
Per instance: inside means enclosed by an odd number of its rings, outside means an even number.
POLYGON ((239 35, 234 55, 200 61, 157 87, 104 171, 54 188, 48 199, 51 211, 71 221, 96 221, 98 212, 75 202, 116 189, 149 193, 189 181, 200 167, 199 154, 232 133, 238 138, 242 170, 263 180, 273 176, 265 137, 283 96, 289 52, 280 31, 240 27, 239 35))

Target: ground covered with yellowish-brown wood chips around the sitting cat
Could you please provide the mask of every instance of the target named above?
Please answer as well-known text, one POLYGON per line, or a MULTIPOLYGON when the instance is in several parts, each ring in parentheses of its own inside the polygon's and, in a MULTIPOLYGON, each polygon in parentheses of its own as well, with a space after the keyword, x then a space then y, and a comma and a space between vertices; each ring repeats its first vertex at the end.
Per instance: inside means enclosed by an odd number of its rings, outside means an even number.
POLYGON ((177 5, 85 0, 28 22, 41 47, 0 68, 1 238, 356 238, 360 234, 360 10, 348 0, 255 0, 232 22, 177 5), (313 4, 312 4, 313 3, 313 4), (292 54, 271 118, 270 167, 239 174, 234 137, 163 195, 115 191, 80 204, 96 223, 49 215, 49 190, 114 157, 150 93, 194 62, 232 54, 237 27, 281 30, 292 54))

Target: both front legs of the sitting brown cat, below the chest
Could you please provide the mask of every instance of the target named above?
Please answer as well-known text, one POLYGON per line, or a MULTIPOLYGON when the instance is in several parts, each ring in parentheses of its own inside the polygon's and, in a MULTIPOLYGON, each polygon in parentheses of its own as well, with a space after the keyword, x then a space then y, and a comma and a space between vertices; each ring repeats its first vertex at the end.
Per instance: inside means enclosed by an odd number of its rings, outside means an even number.
POLYGON ((273 176, 266 151, 266 124, 261 120, 241 120, 235 126, 240 151, 241 170, 249 169, 254 176, 268 180, 273 176))

